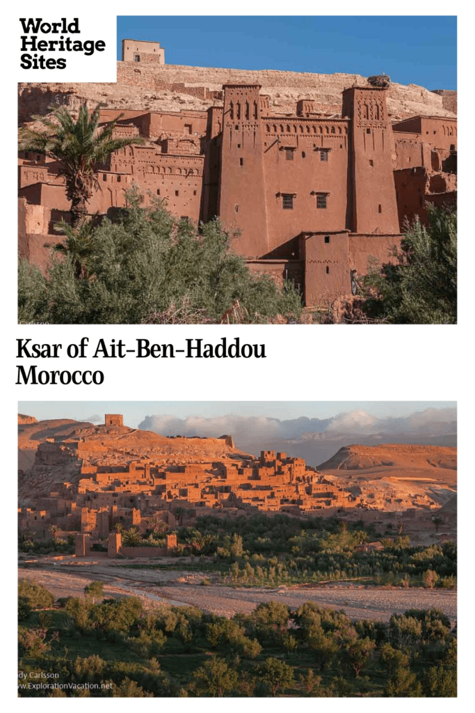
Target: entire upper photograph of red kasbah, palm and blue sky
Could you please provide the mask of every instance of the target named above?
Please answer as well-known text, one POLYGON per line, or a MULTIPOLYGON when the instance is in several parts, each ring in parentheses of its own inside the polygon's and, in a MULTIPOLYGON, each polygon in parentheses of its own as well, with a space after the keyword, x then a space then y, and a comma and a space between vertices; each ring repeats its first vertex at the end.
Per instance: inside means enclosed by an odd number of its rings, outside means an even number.
POLYGON ((456 323, 456 17, 117 22, 19 84, 20 324, 456 323))

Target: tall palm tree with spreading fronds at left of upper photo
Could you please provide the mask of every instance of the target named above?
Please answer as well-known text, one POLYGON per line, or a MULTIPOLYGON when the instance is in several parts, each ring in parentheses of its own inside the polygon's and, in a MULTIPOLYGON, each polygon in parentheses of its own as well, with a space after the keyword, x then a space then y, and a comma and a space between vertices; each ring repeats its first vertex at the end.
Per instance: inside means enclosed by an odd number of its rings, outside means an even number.
POLYGON ((66 195, 71 200, 71 219, 78 225, 87 215, 87 203, 98 188, 95 170, 98 163, 110 154, 134 143, 143 143, 137 136, 114 138, 117 119, 105 128, 99 128, 100 106, 98 104, 89 116, 87 104, 80 106, 78 118, 74 120, 64 106, 53 111, 53 118, 34 116, 46 130, 24 128, 20 131, 19 148, 22 151, 37 151, 61 163, 59 171, 66 179, 66 195))

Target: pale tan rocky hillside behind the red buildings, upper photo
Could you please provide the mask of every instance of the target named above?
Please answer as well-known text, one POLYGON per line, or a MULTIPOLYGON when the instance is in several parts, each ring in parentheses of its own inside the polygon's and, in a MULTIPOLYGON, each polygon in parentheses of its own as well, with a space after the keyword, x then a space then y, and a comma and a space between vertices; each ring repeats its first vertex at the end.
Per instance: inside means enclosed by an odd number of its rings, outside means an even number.
MULTIPOLYGON (((118 62, 117 83, 19 83, 19 121, 44 115, 51 105, 77 110, 87 102, 106 108, 135 111, 204 111, 221 103, 226 83, 256 83, 269 98, 272 114, 295 113, 298 99, 313 99, 315 111, 330 116, 341 112, 343 89, 366 86, 359 74, 317 74, 275 70, 241 70, 181 65, 137 67, 118 62)), ((394 120, 407 116, 455 116, 456 92, 429 91, 416 84, 393 83, 387 92, 387 107, 394 120)))

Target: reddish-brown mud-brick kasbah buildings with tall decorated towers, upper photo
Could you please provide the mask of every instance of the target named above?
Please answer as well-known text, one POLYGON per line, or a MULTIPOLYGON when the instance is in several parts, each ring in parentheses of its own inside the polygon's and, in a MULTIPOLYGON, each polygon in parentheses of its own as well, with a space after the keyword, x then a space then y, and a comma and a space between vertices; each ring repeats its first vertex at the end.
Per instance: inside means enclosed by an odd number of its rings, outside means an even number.
MULTIPOLYGON (((104 123, 123 113, 118 135, 141 135, 146 143, 116 152, 98 171, 101 190, 90 212, 125 205, 125 191, 135 183, 145 195, 165 199, 178 217, 219 216, 251 270, 278 282, 291 279, 307 306, 351 294, 370 262, 391 259, 406 218, 424 221, 427 201, 456 199, 454 114, 392 122, 387 88, 364 86, 364 78, 343 88, 341 115, 328 116, 309 99, 277 114, 259 83, 223 81, 218 92, 187 88, 169 81, 166 72, 180 67, 167 67, 160 43, 122 41, 118 82, 139 66, 138 81, 201 92, 212 106, 104 109, 104 123)), ((57 174, 53 162, 21 154, 20 253, 33 262, 52 214, 68 212, 57 174)))

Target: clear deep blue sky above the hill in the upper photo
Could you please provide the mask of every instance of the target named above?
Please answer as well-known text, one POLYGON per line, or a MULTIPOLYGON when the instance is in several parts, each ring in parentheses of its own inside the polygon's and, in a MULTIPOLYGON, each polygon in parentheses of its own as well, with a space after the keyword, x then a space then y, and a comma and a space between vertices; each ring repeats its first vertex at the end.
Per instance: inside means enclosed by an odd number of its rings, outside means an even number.
POLYGON ((160 42, 167 64, 389 74, 456 89, 455 16, 118 16, 122 39, 160 42))

